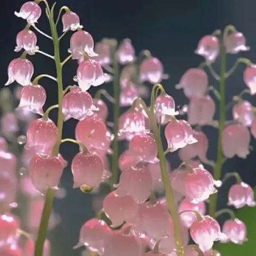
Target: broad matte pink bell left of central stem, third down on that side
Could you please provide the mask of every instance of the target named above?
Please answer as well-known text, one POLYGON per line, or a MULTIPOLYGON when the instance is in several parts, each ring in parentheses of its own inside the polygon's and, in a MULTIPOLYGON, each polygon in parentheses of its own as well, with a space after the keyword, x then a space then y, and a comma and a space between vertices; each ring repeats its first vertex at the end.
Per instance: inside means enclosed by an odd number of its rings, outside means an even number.
POLYGON ((152 190, 152 176, 147 166, 130 167, 120 175, 118 195, 130 194, 137 203, 146 201, 152 190))

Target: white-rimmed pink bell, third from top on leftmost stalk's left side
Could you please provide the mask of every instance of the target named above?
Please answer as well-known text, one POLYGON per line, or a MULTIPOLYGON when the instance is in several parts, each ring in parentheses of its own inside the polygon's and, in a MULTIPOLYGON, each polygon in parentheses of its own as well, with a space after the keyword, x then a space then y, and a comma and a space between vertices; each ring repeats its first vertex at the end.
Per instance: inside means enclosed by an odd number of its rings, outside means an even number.
POLYGON ((5 86, 16 81, 22 86, 28 86, 34 73, 33 64, 26 58, 15 58, 8 65, 8 81, 5 86))

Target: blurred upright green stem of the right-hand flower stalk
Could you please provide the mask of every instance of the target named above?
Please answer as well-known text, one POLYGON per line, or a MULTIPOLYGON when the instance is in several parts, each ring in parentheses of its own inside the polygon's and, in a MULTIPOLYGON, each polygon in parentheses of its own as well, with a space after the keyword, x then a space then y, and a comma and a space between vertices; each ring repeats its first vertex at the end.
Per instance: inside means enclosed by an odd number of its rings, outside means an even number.
MULTIPOLYGON (((221 146, 221 134, 224 130, 225 118, 226 118, 226 100, 225 100, 225 83, 226 83, 226 49, 223 41, 220 44, 220 80, 219 80, 219 134, 218 134, 218 149, 217 149, 217 161, 214 168, 215 180, 220 179, 221 169, 223 166, 223 151, 221 146)), ((211 217, 215 216, 217 207, 218 193, 211 195, 209 203, 209 214, 211 217)))

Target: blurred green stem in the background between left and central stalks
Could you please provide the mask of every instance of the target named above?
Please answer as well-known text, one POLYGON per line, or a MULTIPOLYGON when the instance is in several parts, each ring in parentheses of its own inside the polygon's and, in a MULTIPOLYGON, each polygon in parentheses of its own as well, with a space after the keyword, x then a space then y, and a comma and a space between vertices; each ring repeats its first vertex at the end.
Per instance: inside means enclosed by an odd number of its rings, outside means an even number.
POLYGON ((112 155, 112 184, 117 183, 118 176, 118 131, 119 131, 119 114, 120 114, 120 84, 119 84, 119 64, 116 53, 113 57, 114 69, 114 140, 113 140, 113 155, 112 155))

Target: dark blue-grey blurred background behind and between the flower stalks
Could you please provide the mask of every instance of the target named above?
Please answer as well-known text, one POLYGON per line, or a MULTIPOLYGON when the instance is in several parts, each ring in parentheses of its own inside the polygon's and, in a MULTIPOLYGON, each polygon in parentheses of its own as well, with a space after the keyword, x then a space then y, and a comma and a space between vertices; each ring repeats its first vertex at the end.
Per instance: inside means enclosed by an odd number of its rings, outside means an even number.
MULTIPOLYGON (((7 65, 15 57, 19 56, 13 52, 15 47, 16 34, 24 28, 25 21, 18 19, 14 15, 14 11, 19 11, 23 0, 2 0, 0 3, 0 84, 1 88, 7 81, 7 65)), ((54 1, 48 1, 50 5, 54 1)), ((247 45, 251 47, 250 52, 243 53, 241 56, 250 58, 252 62, 256 62, 256 28, 255 28, 255 11, 256 2, 254 0, 184 0, 184 1, 114 1, 114 0, 59 0, 55 10, 62 5, 71 8, 80 16, 81 24, 84 30, 91 33, 95 41, 101 38, 116 38, 121 41, 124 38, 130 38, 132 44, 138 54, 143 49, 149 49, 152 55, 158 57, 163 62, 165 73, 169 74, 169 79, 163 82, 166 91, 173 96, 178 107, 187 104, 183 92, 175 89, 175 84, 181 78, 181 75, 189 68, 198 66, 203 59, 194 54, 199 39, 203 35, 212 33, 216 29, 224 29, 228 24, 233 24, 238 31, 244 33, 247 39, 247 45)), ((42 5, 43 6, 43 5, 42 5)), ((43 15, 44 16, 44 15, 43 15)), ((39 20, 38 27, 42 31, 49 32, 48 22, 44 17, 39 20)), ((61 26, 59 27, 61 31, 61 26)), ((62 58, 68 55, 69 38, 71 33, 67 33, 62 41, 61 54, 62 58)), ((49 54, 53 54, 51 42, 38 35, 38 45, 41 50, 49 54)), ((227 65, 230 67, 240 54, 228 56, 227 65)), ((29 59, 35 66, 35 75, 40 73, 55 73, 55 66, 50 59, 41 56, 29 56, 29 59)), ((71 61, 65 67, 64 84, 65 86, 73 84, 73 76, 75 75, 77 64, 71 61)), ((218 70, 218 63, 215 65, 218 70)), ((233 95, 245 88, 242 74, 243 64, 237 69, 234 75, 227 80, 227 101, 232 99, 233 95)), ((41 85, 47 90, 47 106, 56 104, 57 88, 56 84, 50 80, 41 80, 41 85)), ((216 81, 210 80, 210 85, 218 86, 216 81)), ((12 84, 10 87, 13 87, 12 84)), ((112 84, 104 86, 112 93, 112 84)), ((150 86, 151 87, 151 86, 150 86)), ((92 95, 95 91, 92 92, 92 95)), ((251 103, 256 105, 256 98, 246 96, 251 103)), ((111 111, 109 111, 109 120, 112 120, 111 111)), ((230 113, 229 113, 230 114, 230 113)), ((229 115, 229 117, 231 117, 229 115)), ((56 113, 52 114, 53 120, 56 120, 56 113)), ((75 121, 66 122, 64 125, 64 137, 73 138, 75 121)), ((216 151, 216 130, 206 129, 209 139, 212 142, 209 148, 209 158, 215 159, 216 151)), ((256 147, 255 140, 252 139, 252 147, 256 147)), ((61 148, 63 157, 69 161, 72 160, 77 148, 71 144, 65 144, 61 148)), ((256 184, 256 151, 252 150, 248 159, 243 160, 234 158, 228 161, 224 166, 226 171, 238 171, 243 180, 250 185, 256 184)), ((170 156, 170 162, 175 168, 179 163, 177 156, 170 156)), ((78 241, 79 230, 86 219, 94 216, 91 207, 91 195, 83 194, 80 190, 72 189, 72 176, 70 166, 65 169, 62 186, 65 187, 67 195, 65 199, 55 200, 54 209, 61 216, 61 224, 59 224, 49 237, 53 241, 54 256, 78 256, 80 250, 73 250, 72 247, 78 241)), ((225 187, 223 189, 225 191, 225 187)), ((220 197, 220 204, 226 203, 226 195, 220 197)), ((251 215, 252 215, 252 211, 251 215)), ((247 212, 246 212, 247 214, 247 212)), ((255 210, 254 210, 255 216, 255 210)), ((248 220, 250 216, 246 217, 248 220)), ((254 217, 255 218, 255 217, 254 217)), ((250 220, 251 221, 251 220, 250 220)), ((251 225, 256 223, 250 222, 251 225)), ((255 242, 255 240, 254 240, 255 242)), ((246 246, 246 245, 245 245, 246 246)), ((253 246, 251 244, 251 246, 253 246)), ((251 250, 249 247, 243 250, 251 250)), ((232 255, 236 254, 240 249, 235 246, 232 255)), ((249 251, 248 251, 249 252, 249 251)), ((229 256, 230 252, 224 253, 229 256)), ((241 253, 241 252, 240 252, 241 253)), ((254 254, 250 254, 254 255, 254 254)))

